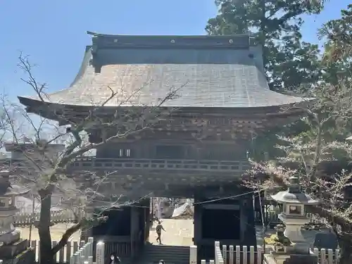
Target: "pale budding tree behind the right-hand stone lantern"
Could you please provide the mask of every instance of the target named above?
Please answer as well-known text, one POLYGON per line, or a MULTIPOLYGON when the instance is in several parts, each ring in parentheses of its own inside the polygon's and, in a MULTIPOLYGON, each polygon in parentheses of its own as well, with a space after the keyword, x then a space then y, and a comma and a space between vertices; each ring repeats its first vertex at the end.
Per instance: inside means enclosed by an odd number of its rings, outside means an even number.
POLYGON ((277 134, 277 148, 284 153, 270 161, 256 163, 246 186, 255 189, 286 187, 289 177, 300 178, 307 194, 320 200, 313 213, 326 218, 338 235, 341 263, 349 263, 352 253, 352 145, 346 142, 351 130, 352 94, 348 80, 338 86, 316 85, 308 97, 315 100, 300 108, 308 130, 298 134, 277 134), (345 261, 345 262, 344 262, 345 261))

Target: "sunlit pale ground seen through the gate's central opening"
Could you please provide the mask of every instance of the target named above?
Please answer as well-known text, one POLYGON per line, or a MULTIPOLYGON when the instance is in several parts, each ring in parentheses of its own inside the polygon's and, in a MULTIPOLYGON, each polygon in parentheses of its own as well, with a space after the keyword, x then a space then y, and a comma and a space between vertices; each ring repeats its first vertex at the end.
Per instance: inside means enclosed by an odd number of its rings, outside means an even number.
MULTIPOLYGON (((163 219, 162 225, 166 232, 161 233, 161 241, 164 245, 170 246, 191 246, 193 245, 193 219, 163 219)), ((149 242, 158 244, 156 242, 156 223, 153 224, 149 242)))

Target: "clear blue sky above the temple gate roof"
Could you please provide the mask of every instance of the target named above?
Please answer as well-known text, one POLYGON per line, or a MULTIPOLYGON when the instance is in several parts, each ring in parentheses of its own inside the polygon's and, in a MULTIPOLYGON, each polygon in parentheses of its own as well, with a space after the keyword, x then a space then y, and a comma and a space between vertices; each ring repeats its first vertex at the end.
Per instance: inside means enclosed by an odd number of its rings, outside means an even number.
MULTIPOLYGON (((318 42, 322 23, 338 18, 347 0, 329 1, 325 11, 306 19, 303 37, 318 42)), ((20 81, 16 63, 20 51, 30 54, 39 81, 49 91, 67 87, 75 77, 87 30, 106 34, 205 34, 216 14, 213 0, 0 0, 0 92, 14 98, 32 94, 20 81)))

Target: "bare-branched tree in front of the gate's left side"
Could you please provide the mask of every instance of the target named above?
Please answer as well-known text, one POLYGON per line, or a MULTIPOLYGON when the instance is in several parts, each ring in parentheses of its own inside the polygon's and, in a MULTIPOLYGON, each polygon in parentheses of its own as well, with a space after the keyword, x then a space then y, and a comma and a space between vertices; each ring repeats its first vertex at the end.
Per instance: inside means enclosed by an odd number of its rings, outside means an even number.
MULTIPOLYGON (((67 125, 61 127, 57 122, 34 116, 27 111, 32 109, 23 109, 4 98, 2 100, 2 111, 4 112, 1 120, 1 132, 4 136, 1 139, 10 140, 11 144, 5 144, 9 151, 12 151, 18 158, 11 163, 3 164, 6 169, 13 172, 14 181, 24 184, 32 190, 34 196, 40 199, 40 217, 37 225, 40 239, 40 263, 52 263, 55 254, 68 242, 70 236, 80 229, 90 228, 99 225, 106 220, 101 213, 98 215, 77 215, 75 225, 65 231, 61 240, 56 246, 51 247, 51 206, 54 195, 61 196, 68 204, 68 207, 78 207, 80 211, 92 206, 94 201, 108 200, 106 209, 116 208, 126 205, 120 201, 120 197, 109 201, 108 197, 99 192, 99 187, 106 184, 106 179, 114 172, 101 173, 92 171, 81 171, 75 177, 68 169, 70 163, 75 158, 98 149, 106 144, 111 144, 117 140, 123 140, 126 137, 148 130, 153 125, 160 122, 164 115, 170 114, 169 111, 161 110, 161 105, 168 99, 176 96, 177 89, 170 90, 165 98, 161 98, 156 106, 131 108, 130 111, 115 111, 110 119, 101 118, 101 107, 108 101, 118 96, 118 92, 107 87, 110 92, 108 99, 102 104, 92 103, 92 108, 83 116, 79 122, 71 121, 73 115, 62 113, 59 115, 53 111, 53 106, 47 103, 45 88, 46 84, 41 84, 36 80, 33 74, 33 66, 28 61, 27 56, 20 56, 18 66, 23 70, 23 82, 28 84, 37 95, 40 111, 37 113, 51 113, 53 120, 64 121, 67 125), (95 127, 101 132, 98 140, 89 141, 87 131, 95 127), (82 177, 84 180, 82 181, 82 177)), ((139 87, 135 95, 138 96, 143 87, 139 87)), ((127 99, 120 99, 116 109, 127 99)), ((35 108, 36 106, 34 106, 35 108)), ((34 111, 35 112, 35 111, 34 111)), ((131 202, 129 202, 131 204, 131 202)))

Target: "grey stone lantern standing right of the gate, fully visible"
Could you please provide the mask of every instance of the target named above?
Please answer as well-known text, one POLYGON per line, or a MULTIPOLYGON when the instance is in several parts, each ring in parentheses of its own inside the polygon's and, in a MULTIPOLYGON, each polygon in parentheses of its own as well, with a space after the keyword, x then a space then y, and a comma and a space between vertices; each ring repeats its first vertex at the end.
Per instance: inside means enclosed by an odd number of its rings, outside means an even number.
POLYGON ((308 253, 309 246, 301 233, 301 227, 309 222, 306 218, 305 206, 316 205, 319 201, 302 192, 298 177, 289 179, 287 191, 279 191, 271 197, 283 205, 283 212, 279 214, 279 220, 282 220, 286 226, 284 236, 294 244, 294 251, 308 253))

